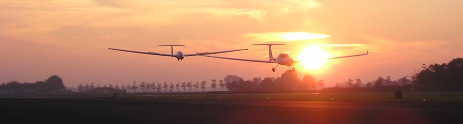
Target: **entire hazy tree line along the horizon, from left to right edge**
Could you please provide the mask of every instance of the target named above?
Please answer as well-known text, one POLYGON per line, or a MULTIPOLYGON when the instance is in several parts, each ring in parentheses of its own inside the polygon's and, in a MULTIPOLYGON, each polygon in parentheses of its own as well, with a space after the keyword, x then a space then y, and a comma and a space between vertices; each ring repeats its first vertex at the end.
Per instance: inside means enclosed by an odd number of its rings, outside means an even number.
MULTIPOLYGON (((207 81, 201 82, 177 82, 177 83, 146 83, 133 81, 132 84, 113 85, 104 84, 103 86, 94 83, 80 84, 78 91, 96 92, 96 91, 113 91, 113 92, 205 92, 207 87, 214 91, 231 91, 231 92, 309 92, 312 90, 325 91, 383 91, 397 90, 404 88, 416 88, 422 91, 463 91, 463 59, 456 58, 448 63, 442 64, 422 64, 421 70, 413 73, 412 76, 404 76, 398 80, 392 80, 390 76, 378 77, 374 81, 363 83, 361 79, 348 79, 345 82, 336 83, 333 87, 325 88, 323 80, 316 80, 312 75, 304 75, 302 79, 297 77, 297 72, 290 70, 285 71, 279 77, 254 77, 244 80, 237 75, 227 75, 224 79, 212 79, 208 85, 207 81), (193 89, 193 90, 192 90, 193 89), (218 89, 218 90, 217 90, 218 89)), ((58 75, 53 75, 45 81, 35 83, 19 83, 11 81, 0 84, 0 93, 2 94, 20 94, 20 93, 56 93, 64 92, 65 86, 63 80, 58 75)))

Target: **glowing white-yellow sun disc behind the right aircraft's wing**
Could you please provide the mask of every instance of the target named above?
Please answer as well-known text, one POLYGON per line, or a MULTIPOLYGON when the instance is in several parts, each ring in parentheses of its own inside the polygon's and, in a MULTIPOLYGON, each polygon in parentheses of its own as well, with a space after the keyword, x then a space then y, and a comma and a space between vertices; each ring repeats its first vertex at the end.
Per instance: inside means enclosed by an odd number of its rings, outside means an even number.
POLYGON ((306 69, 317 70, 323 67, 325 59, 331 57, 330 54, 320 48, 319 45, 309 45, 304 48, 297 56, 297 61, 306 69))

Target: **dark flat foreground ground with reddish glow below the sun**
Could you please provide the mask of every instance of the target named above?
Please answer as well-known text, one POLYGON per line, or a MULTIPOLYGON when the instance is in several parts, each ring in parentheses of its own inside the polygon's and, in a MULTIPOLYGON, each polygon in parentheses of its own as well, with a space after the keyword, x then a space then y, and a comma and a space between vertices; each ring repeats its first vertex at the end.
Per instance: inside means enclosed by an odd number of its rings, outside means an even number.
POLYGON ((462 103, 0 99, 2 124, 461 124, 462 103))

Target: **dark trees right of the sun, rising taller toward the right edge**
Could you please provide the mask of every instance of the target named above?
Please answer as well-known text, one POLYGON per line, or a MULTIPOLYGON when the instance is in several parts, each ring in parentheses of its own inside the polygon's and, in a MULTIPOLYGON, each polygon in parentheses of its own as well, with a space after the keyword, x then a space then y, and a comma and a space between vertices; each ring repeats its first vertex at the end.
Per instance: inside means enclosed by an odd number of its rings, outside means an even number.
POLYGON ((404 76, 398 80, 378 77, 374 81, 362 83, 361 79, 348 79, 337 83, 326 91, 463 91, 463 59, 452 59, 448 63, 422 64, 421 70, 412 76, 404 76))

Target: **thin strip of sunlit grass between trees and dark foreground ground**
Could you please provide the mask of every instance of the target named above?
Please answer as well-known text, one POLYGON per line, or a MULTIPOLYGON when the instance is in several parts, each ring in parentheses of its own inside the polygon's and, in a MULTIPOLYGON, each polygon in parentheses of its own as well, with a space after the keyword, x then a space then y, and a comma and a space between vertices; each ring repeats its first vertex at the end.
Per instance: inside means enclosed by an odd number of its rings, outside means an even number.
POLYGON ((235 100, 298 100, 298 101, 362 101, 362 102, 463 102, 463 92, 394 92, 312 93, 312 94, 202 94, 119 96, 154 99, 235 99, 235 100), (424 100, 425 99, 425 100, 424 100))

